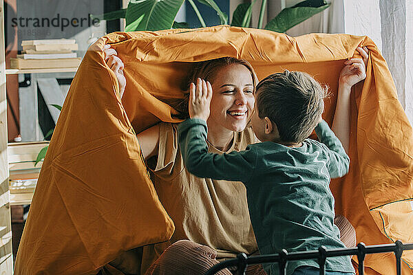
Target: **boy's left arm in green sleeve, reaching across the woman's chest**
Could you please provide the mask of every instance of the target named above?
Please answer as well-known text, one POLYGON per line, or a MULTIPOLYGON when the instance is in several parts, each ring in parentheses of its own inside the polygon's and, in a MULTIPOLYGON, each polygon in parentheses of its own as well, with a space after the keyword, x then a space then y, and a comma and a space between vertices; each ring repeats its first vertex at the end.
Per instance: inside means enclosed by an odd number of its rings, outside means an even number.
POLYGON ((208 153, 207 122, 185 120, 178 126, 179 145, 187 170, 197 177, 247 182, 253 175, 253 150, 220 154, 208 153))

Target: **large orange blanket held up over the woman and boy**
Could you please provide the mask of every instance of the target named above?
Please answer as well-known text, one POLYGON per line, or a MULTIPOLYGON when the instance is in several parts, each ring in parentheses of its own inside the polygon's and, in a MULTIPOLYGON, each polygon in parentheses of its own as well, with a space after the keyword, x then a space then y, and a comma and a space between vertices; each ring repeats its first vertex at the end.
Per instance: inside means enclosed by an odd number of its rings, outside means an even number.
MULTIPOLYGON (((222 56, 251 62, 258 78, 301 70, 328 83, 324 119, 331 124, 343 61, 367 46, 367 78, 352 94, 350 173, 333 181, 337 213, 368 245, 413 242, 412 127, 392 76, 366 36, 216 26, 199 30, 118 32, 91 47, 78 69, 54 131, 21 239, 14 274, 94 274, 121 250, 167 240, 173 223, 147 176, 134 131, 174 122, 189 63, 222 56), (125 63, 122 103, 101 48, 125 63)), ((413 274, 413 252, 403 274, 413 274)), ((392 254, 366 257, 367 274, 395 273, 392 254), (377 272, 377 273, 376 273, 377 272)))

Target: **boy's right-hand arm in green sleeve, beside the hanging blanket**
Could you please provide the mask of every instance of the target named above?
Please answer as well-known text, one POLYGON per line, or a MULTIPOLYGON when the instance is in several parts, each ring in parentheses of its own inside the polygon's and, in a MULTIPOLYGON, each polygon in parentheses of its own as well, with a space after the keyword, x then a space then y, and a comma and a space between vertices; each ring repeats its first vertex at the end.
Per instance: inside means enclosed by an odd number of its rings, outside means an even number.
POLYGON ((327 164, 328 172, 330 177, 343 177, 348 173, 348 168, 350 166, 350 157, 344 151, 340 140, 335 136, 330 127, 328 127, 327 122, 321 120, 321 122, 315 127, 315 133, 320 142, 326 144, 330 149, 328 151, 330 162, 327 164))

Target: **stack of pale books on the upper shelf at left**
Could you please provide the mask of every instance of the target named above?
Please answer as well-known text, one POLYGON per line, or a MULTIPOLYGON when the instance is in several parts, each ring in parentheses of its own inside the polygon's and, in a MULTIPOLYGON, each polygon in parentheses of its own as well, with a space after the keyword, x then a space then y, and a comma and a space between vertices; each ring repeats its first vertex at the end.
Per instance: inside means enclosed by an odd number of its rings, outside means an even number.
POLYGON ((22 54, 10 58, 11 69, 46 69, 78 67, 78 45, 74 39, 41 39, 21 42, 22 54))

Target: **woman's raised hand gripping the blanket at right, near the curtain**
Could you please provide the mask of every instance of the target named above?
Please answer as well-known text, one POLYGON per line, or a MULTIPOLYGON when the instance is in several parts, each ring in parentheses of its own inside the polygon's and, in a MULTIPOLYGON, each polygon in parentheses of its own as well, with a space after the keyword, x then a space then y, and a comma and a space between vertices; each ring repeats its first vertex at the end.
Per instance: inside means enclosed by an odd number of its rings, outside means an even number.
POLYGON ((357 47, 357 52, 361 54, 362 58, 351 58, 344 62, 345 67, 341 70, 339 78, 339 85, 343 87, 351 88, 352 85, 366 78, 368 49, 367 47, 357 47))

